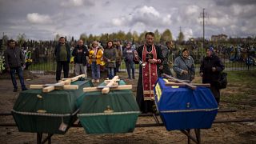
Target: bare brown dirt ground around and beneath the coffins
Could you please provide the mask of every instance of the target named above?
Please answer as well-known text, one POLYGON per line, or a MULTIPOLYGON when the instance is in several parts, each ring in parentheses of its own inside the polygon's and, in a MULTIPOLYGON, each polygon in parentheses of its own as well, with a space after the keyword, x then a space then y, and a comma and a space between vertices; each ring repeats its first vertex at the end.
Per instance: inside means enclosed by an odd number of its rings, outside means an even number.
MULTIPOLYGON (((134 81, 126 79, 126 73, 120 74, 127 84, 133 85, 135 92, 138 75, 134 81)), ((54 83, 54 75, 25 74, 26 85, 54 83)), ((101 80, 102 81, 102 80, 101 80)), ((19 85, 18 85, 19 86, 19 85)), ((20 90, 20 89, 19 89, 20 90)), ((19 92, 19 91, 18 91, 19 92)), ((10 113, 19 93, 13 92, 10 79, 0 78, 0 113, 10 113)), ((255 100, 255 99, 254 99, 255 100)), ((250 101, 250 100, 249 100, 250 101)), ((228 103, 221 102, 220 108, 230 108, 228 103)), ((256 118, 256 106, 246 105, 233 113, 218 113, 219 119, 256 118)), ((160 118, 159 118, 160 119, 160 118)), ((137 123, 153 123, 154 118, 139 117, 137 123)), ((14 123, 11 116, 0 116, 0 123, 14 123)), ((194 134, 194 131, 192 131, 194 134)), ((46 136, 46 135, 45 135, 46 136)), ((202 143, 256 143, 256 122, 229 122, 213 124, 212 128, 201 130, 202 143)), ((19 132, 14 126, 0 126, 0 143, 36 143, 37 135, 19 132)), ((129 134, 86 134, 83 128, 72 127, 64 135, 54 134, 52 143, 187 143, 187 138, 179 130, 167 131, 164 126, 135 128, 129 134)), ((192 142, 194 143, 194 142, 192 142)))

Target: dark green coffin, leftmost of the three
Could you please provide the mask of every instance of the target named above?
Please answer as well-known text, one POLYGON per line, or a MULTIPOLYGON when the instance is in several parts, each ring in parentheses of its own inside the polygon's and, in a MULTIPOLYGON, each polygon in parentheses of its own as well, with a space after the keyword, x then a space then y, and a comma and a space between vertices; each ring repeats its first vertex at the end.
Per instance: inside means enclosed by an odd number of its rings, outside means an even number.
POLYGON ((78 106, 76 99, 83 93, 84 87, 93 86, 88 79, 72 82, 78 90, 53 90, 42 93, 42 90, 22 91, 14 104, 12 114, 22 132, 65 134, 70 125, 77 119, 78 106), (63 125, 64 123, 64 125, 63 125), (60 126, 66 129, 59 130, 60 126))

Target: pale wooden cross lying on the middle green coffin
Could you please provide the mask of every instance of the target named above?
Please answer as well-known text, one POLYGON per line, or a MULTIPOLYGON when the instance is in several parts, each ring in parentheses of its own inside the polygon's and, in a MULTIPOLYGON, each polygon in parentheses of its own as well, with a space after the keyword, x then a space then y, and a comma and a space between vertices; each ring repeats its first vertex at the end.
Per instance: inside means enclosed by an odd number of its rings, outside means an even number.
POLYGON ((110 90, 131 90, 132 85, 118 85, 118 76, 114 76, 111 80, 105 80, 106 86, 97 86, 97 87, 85 87, 83 88, 84 92, 92 91, 102 91, 102 94, 108 94, 110 90))

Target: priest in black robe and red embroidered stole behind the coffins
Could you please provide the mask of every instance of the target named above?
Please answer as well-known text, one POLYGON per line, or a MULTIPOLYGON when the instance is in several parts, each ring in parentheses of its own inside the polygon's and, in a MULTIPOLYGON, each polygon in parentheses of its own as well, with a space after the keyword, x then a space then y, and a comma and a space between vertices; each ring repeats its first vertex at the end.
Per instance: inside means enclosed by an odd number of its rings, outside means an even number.
POLYGON ((160 47, 154 46, 154 33, 146 33, 145 39, 146 43, 134 51, 134 62, 140 63, 136 100, 142 113, 154 112, 154 84, 164 59, 160 47))

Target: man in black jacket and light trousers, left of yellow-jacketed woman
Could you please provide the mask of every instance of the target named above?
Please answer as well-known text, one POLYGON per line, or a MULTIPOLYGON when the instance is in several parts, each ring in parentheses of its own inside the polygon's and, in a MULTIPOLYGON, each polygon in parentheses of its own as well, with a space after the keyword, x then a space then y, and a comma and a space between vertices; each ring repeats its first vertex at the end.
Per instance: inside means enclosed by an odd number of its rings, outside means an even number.
POLYGON ((74 56, 74 68, 75 75, 79 75, 80 71, 82 74, 86 74, 87 78, 87 56, 89 56, 89 51, 86 46, 83 45, 82 39, 78 41, 78 46, 76 46, 72 52, 74 56))

